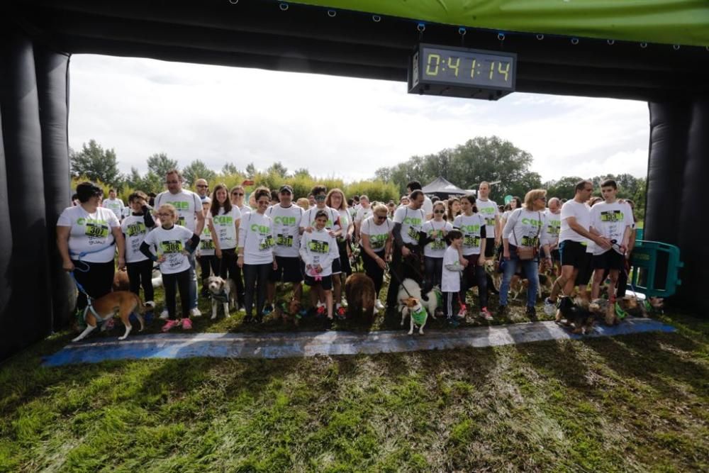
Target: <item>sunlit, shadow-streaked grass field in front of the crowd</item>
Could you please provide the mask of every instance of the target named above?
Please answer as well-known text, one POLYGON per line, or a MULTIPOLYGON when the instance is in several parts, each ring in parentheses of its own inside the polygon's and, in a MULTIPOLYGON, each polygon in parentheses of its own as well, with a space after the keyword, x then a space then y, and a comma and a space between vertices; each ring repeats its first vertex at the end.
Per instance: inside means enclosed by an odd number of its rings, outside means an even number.
MULTIPOLYGON (((240 318, 195 327, 284 328, 240 318)), ((61 333, 0 367, 0 471, 708 471, 709 319, 664 320, 679 332, 40 367, 61 333)))

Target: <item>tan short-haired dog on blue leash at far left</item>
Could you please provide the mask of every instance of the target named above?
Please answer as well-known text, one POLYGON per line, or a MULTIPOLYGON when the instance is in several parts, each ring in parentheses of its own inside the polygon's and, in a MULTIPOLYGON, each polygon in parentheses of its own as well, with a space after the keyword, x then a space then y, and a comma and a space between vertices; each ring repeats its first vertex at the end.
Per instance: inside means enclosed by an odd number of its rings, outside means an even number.
POLYGON ((143 331, 145 323, 143 322, 143 302, 140 301, 140 297, 136 296, 130 291, 116 291, 106 294, 105 296, 99 297, 99 299, 94 299, 91 301, 91 305, 84 309, 84 321, 86 321, 86 329, 77 337, 72 340, 72 342, 78 342, 82 338, 89 335, 99 322, 104 322, 118 313, 118 316, 123 321, 125 325, 125 333, 122 337, 118 337, 118 340, 125 340, 130 333, 130 329, 133 328, 130 325, 130 314, 135 311, 135 316, 138 317, 140 322, 140 331, 143 331), (138 309, 138 310, 136 310, 138 309), (98 317, 96 317, 98 316, 98 317))

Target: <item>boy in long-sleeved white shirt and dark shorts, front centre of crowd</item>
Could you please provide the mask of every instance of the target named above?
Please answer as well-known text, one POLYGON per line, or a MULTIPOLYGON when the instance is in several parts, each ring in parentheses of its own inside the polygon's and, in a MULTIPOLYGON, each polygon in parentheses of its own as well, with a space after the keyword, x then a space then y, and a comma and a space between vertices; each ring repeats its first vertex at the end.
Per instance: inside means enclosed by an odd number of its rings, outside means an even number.
MULTIPOLYGON (((337 240, 328 233, 328 212, 318 210, 315 216, 315 229, 303 233, 300 255, 305 264, 305 282, 308 286, 320 286, 325 293, 325 307, 328 313, 328 325, 333 321, 333 260, 339 256, 337 240)), ((321 306, 320 306, 321 307, 321 306)), ((318 315, 325 310, 318 307, 318 315)))

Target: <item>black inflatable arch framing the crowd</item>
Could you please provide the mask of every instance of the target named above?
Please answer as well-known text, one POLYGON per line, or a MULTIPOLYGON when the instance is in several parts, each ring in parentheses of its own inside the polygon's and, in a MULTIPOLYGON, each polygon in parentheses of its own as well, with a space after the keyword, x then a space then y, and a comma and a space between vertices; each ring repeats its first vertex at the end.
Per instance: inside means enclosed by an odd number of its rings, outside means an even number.
MULTIPOLYGON (((11 0, 0 5, 0 360, 65 326, 72 285, 54 226, 69 202, 69 57, 94 53, 406 81, 419 40, 458 46, 457 27, 240 0, 11 0)), ((679 245, 672 303, 709 309, 703 186, 709 178, 705 48, 469 29, 464 45, 518 53, 519 91, 649 103, 645 237, 679 245)), ((402 84, 402 87, 405 87, 402 84)), ((297 91, 294 91, 297 93, 297 91)), ((598 169, 598 172, 610 169, 598 169)))

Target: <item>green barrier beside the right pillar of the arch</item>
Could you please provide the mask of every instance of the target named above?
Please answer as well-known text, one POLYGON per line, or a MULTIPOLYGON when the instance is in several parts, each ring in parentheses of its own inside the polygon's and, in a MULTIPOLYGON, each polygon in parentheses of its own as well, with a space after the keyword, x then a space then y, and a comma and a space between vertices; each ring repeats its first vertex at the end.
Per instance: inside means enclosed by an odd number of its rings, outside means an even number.
POLYGON ((682 284, 679 248, 657 241, 638 240, 630 259, 631 289, 647 297, 669 297, 682 284))

